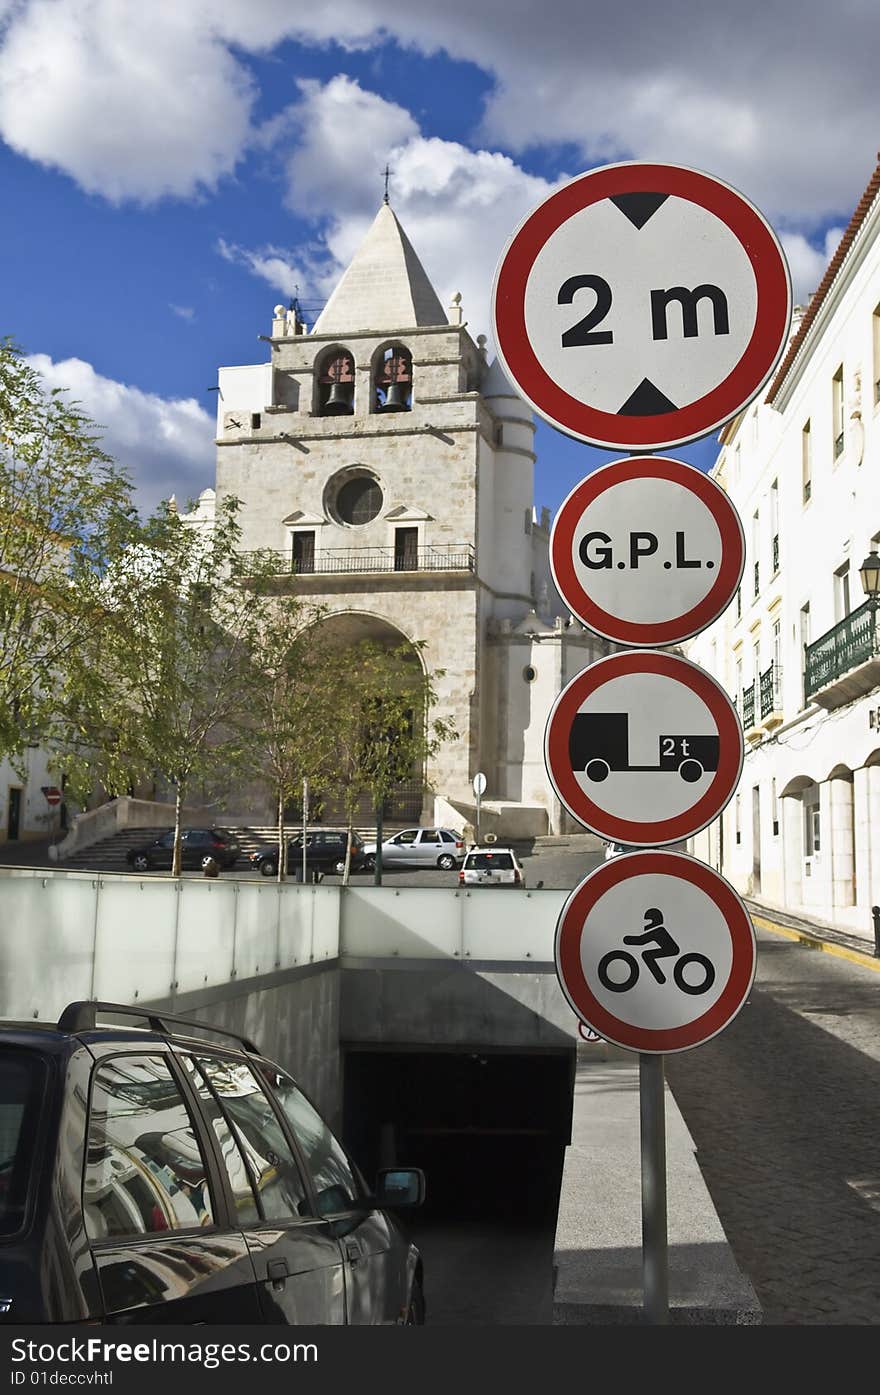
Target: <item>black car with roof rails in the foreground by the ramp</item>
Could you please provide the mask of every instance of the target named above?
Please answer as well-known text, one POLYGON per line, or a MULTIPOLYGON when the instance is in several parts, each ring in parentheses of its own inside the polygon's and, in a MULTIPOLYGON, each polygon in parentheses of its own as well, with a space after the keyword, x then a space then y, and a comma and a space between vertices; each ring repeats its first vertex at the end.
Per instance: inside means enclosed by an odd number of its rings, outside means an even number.
POLYGON ((245 1038, 93 1002, 0 1023, 0 1324, 421 1324, 390 1211, 423 1198, 418 1169, 370 1191, 245 1038))

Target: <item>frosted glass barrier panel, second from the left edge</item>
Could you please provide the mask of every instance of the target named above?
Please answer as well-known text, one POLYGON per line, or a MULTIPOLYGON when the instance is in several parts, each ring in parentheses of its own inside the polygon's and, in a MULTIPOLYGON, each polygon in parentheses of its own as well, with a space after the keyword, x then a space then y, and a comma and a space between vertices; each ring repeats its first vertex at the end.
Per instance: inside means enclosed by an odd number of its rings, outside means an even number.
POLYGON ((95 997, 137 1003, 169 996, 179 900, 170 877, 100 877, 95 997))

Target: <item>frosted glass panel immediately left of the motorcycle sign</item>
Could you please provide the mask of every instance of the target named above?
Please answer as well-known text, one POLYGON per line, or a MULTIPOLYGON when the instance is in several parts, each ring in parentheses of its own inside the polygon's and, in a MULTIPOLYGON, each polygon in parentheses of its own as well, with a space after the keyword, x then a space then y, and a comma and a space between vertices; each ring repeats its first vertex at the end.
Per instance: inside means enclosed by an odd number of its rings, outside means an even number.
POLYGON ((568 891, 478 886, 462 897, 464 958, 552 964, 568 891))

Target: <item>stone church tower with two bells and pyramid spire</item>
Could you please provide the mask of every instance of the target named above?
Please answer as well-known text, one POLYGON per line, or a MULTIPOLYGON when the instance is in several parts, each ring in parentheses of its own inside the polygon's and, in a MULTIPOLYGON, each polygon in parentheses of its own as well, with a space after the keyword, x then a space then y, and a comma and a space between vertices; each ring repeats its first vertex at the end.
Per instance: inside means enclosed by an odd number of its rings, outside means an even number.
MULTIPOLYGON (((529 407, 487 364, 460 297, 443 311, 388 202, 314 328, 276 306, 268 340, 268 364, 219 377, 216 492, 243 501, 243 545, 275 550, 290 594, 324 605, 343 639, 421 640, 442 671, 435 714, 459 739, 404 817, 445 822, 435 797, 470 808, 483 770, 487 801, 537 798, 545 831, 549 795, 522 780, 529 703, 508 692, 513 671, 527 682, 523 633, 531 644, 563 625, 549 519, 533 506, 529 407)), ((530 759, 537 770, 537 745, 530 759)))

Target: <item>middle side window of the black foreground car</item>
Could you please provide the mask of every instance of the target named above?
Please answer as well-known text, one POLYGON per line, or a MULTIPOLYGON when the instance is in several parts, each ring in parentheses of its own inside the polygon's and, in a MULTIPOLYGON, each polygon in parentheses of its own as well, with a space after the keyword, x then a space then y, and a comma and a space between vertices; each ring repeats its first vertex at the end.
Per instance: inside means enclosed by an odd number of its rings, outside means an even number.
POLYGON ((298 1163, 250 1066, 208 1056, 197 1062, 247 1156, 266 1221, 305 1215, 310 1207, 298 1163))

